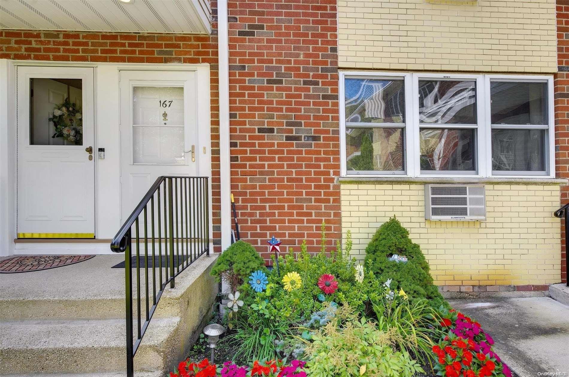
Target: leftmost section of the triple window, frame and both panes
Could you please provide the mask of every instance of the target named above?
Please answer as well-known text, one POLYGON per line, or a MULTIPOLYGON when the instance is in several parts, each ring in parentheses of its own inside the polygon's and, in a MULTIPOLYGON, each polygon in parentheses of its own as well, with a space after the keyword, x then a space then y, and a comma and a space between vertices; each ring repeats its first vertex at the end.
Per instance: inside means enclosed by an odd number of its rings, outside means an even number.
POLYGON ((343 171, 347 175, 407 175, 409 74, 344 77, 343 171))

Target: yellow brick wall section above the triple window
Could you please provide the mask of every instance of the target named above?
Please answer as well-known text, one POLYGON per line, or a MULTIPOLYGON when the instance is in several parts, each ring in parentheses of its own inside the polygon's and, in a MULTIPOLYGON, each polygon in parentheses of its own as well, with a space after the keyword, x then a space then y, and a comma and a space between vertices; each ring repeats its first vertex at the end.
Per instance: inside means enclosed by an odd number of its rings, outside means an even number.
POLYGON ((556 72, 555 0, 340 0, 340 68, 556 72))

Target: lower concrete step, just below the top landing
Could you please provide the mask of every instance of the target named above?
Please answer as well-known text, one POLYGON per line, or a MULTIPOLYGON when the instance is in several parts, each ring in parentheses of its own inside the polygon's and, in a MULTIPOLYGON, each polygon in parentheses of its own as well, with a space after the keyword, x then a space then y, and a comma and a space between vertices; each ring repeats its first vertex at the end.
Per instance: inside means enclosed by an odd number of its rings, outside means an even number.
MULTIPOLYGON (((152 318, 134 359, 137 371, 167 370, 178 349, 180 318, 152 318)), ((0 374, 126 370, 124 320, 0 322, 0 374)), ((34 373, 34 375, 38 375, 34 373)), ((112 376, 110 374, 109 376, 112 376)))

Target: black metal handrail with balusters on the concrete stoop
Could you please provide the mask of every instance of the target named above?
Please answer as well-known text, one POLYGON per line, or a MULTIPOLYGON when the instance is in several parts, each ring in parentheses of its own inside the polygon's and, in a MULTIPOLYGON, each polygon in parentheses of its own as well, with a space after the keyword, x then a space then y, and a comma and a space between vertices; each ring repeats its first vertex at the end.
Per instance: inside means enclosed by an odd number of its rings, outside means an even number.
POLYGON ((176 276, 201 255, 207 254, 209 256, 208 177, 158 177, 137 205, 137 208, 134 209, 114 236, 110 249, 113 252, 125 252, 126 373, 128 377, 131 377, 134 375, 134 355, 137 353, 142 337, 148 328, 152 314, 154 314, 166 285, 170 283, 170 288, 174 288, 176 276), (150 222, 148 212, 150 212, 150 222), (143 222, 144 229, 143 275, 145 281, 143 284, 145 285, 145 298, 141 297, 140 222, 143 222), (133 241, 136 250, 134 262, 137 279, 137 339, 134 342, 133 274, 131 271, 133 267, 133 241), (162 246, 165 263, 162 263, 162 246), (156 255, 156 247, 158 248, 158 255, 156 255), (151 251, 151 255, 149 255, 149 251, 151 251), (149 281, 149 256, 152 258, 151 281, 149 281), (156 256, 158 256, 158 261, 156 261, 156 256), (158 262, 158 266, 156 266, 156 262, 158 262), (157 267, 158 280, 156 280, 157 267), (150 300, 150 284, 152 284, 152 300, 150 300), (156 285, 158 285, 158 290, 156 285), (142 322, 141 300, 143 299, 146 301, 146 319, 142 322))

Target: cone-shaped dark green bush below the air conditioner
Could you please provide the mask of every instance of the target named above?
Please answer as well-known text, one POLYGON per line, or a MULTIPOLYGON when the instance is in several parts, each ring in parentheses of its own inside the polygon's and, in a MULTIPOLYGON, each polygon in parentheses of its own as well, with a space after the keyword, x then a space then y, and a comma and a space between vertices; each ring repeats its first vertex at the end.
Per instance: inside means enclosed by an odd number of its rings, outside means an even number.
POLYGON ((411 302, 429 300, 433 308, 448 305, 433 284, 429 266, 417 243, 409 238, 409 231, 396 218, 380 226, 365 249, 366 265, 381 281, 393 279, 391 288, 403 288, 411 302), (391 255, 406 256, 407 262, 389 260, 391 255))

